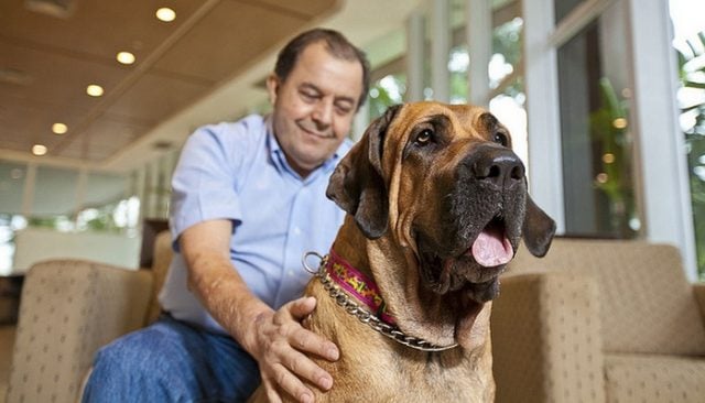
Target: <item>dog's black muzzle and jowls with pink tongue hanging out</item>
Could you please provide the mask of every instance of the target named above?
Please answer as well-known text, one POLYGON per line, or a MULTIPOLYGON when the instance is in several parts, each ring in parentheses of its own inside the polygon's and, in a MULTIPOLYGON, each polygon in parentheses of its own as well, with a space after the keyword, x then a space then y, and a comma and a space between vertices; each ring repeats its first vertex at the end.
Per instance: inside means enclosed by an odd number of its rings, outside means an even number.
POLYGON ((458 163, 441 219, 443 237, 420 237, 427 287, 438 294, 465 290, 477 302, 497 295, 497 277, 521 237, 524 172, 511 150, 492 143, 475 146, 458 163))

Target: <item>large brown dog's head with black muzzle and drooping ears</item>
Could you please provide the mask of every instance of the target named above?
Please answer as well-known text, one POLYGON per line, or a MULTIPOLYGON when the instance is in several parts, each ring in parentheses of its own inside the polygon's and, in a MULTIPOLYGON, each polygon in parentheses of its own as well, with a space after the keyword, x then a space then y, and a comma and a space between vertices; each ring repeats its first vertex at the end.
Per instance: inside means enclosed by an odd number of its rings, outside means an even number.
MULTIPOLYGON (((402 328, 404 316, 421 314, 469 331, 481 305, 497 296, 499 274, 522 236, 541 257, 555 231, 527 193, 508 130, 473 106, 390 108, 337 166, 327 196, 367 238, 392 239, 413 254, 416 273, 394 274, 403 283, 390 286, 388 273, 373 273, 382 292, 392 294, 384 297, 402 316, 402 328)), ((448 331, 431 336, 447 341, 448 331)))

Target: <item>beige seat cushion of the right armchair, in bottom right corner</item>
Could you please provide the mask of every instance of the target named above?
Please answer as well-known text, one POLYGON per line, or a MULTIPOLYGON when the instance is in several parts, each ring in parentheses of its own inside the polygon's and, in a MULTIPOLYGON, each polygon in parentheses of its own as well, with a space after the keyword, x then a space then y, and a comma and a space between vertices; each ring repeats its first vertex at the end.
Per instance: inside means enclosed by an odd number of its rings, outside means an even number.
POLYGON ((605 357, 607 402, 703 402, 705 357, 605 357))

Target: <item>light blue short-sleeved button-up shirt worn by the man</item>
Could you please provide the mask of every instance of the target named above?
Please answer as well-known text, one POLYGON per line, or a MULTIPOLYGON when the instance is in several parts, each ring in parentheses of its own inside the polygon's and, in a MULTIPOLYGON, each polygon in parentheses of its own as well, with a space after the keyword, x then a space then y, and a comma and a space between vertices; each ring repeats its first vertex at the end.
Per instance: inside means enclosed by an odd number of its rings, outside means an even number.
POLYGON ((175 254, 160 294, 177 319, 224 333, 186 287, 186 264, 176 240, 188 227, 210 219, 234 224, 230 259, 252 293, 276 309, 299 297, 311 274, 304 252, 327 253, 345 213, 325 196, 328 178, 350 149, 302 178, 286 162, 269 120, 203 127, 182 151, 172 181, 170 226, 175 254))

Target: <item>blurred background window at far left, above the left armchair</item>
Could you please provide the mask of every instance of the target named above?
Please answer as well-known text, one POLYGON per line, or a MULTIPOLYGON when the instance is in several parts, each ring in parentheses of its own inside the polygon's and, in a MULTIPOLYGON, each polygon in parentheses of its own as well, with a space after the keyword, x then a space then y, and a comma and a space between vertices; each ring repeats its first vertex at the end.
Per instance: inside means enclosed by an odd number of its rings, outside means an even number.
MULTIPOLYGON (((0 161, 0 274, 28 269, 15 264, 20 255, 34 252, 18 243, 22 230, 24 236, 91 230, 134 238, 137 187, 133 177, 122 174, 0 161)), ((126 265, 130 258, 124 257, 126 265)))

